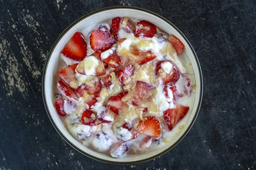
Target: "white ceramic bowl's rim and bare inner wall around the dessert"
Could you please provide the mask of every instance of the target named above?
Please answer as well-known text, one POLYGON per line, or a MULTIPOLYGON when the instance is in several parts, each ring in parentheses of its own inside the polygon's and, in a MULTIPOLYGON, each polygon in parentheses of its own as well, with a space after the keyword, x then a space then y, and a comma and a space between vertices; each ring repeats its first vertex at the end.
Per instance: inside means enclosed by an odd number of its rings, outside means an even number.
POLYGON ((45 108, 47 110, 47 113, 49 115, 49 118, 52 124, 54 125, 58 133, 64 138, 64 140, 68 144, 73 146, 76 150, 83 153, 84 155, 99 161, 104 161, 104 162, 113 163, 113 164, 134 164, 134 163, 139 163, 143 161, 148 161, 150 159, 154 159, 171 150, 178 142, 180 142, 181 139, 183 139, 186 133, 188 133, 192 124, 195 122, 195 118, 198 114, 198 111, 201 105, 202 92, 203 92, 203 82, 202 82, 201 68, 198 62, 198 58, 195 54, 195 51, 193 50, 191 44, 186 39, 186 37, 172 23, 170 23, 168 20, 161 17, 160 15, 155 14, 151 11, 147 11, 145 9, 125 7, 125 6, 103 8, 103 9, 91 12, 89 14, 86 14, 83 17, 76 20, 74 23, 72 23, 58 37, 58 39, 52 46, 52 49, 50 50, 45 63, 43 80, 42 80, 42 93, 43 93, 45 108), (85 147, 83 144, 78 142, 75 138, 73 138, 73 136, 70 135, 70 133, 64 127, 63 123, 61 122, 61 119, 59 118, 58 114, 55 111, 54 92, 52 89, 55 86, 54 77, 57 72, 60 51, 64 47, 66 42, 73 36, 73 34, 76 31, 81 31, 83 28, 91 24, 97 23, 99 21, 111 19, 113 17, 124 17, 124 16, 130 16, 133 18, 141 19, 141 20, 148 20, 151 23, 154 23, 156 26, 159 26, 160 28, 162 28, 168 34, 173 34, 177 38, 179 38, 184 43, 185 45, 184 52, 187 54, 187 56, 189 57, 192 63, 192 66, 195 72, 195 82, 196 82, 197 88, 196 88, 195 103, 194 103, 194 107, 192 108, 192 113, 190 114, 188 121, 186 122, 183 130, 180 131, 180 133, 172 142, 170 142, 169 144, 166 144, 165 147, 162 147, 158 150, 154 150, 152 152, 146 152, 143 154, 134 154, 131 156, 115 159, 115 158, 112 158, 111 156, 107 156, 102 153, 98 153, 93 150, 90 150, 89 148, 85 147))

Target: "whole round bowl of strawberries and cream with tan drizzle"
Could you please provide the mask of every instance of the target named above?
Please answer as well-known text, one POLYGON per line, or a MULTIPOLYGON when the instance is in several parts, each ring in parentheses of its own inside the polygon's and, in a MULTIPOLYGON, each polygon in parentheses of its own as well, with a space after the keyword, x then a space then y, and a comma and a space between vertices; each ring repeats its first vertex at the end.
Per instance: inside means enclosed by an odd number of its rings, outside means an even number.
POLYGON ((192 47, 168 21, 142 9, 105 8, 55 42, 43 95, 68 143, 93 159, 128 164, 160 156, 183 138, 200 107, 202 78, 192 47))

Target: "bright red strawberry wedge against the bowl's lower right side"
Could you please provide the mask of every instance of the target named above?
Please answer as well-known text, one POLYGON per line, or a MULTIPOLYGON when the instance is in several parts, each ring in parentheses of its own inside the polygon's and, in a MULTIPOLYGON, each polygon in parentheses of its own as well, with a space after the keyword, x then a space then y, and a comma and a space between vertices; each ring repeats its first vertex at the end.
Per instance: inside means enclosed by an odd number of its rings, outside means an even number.
POLYGON ((166 125, 170 130, 172 130, 175 125, 188 113, 189 107, 179 105, 177 103, 174 104, 174 108, 168 109, 163 112, 163 118, 166 122, 166 125))

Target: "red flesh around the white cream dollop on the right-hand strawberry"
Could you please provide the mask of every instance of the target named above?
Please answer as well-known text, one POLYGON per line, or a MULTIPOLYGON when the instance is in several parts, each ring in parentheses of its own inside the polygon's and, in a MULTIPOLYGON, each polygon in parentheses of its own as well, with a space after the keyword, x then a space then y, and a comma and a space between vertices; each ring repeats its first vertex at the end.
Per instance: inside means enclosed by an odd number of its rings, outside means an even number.
POLYGON ((163 62, 169 62, 169 61, 160 61, 157 63, 157 68, 156 68, 156 71, 157 71, 157 75, 159 75, 162 80, 163 80, 163 84, 166 84, 168 82, 172 82, 172 83, 175 83, 178 81, 178 79, 180 78, 180 72, 178 70, 178 68, 176 67, 176 65, 172 63, 172 70, 170 71, 169 74, 167 74, 166 72, 164 72, 161 64, 163 62))

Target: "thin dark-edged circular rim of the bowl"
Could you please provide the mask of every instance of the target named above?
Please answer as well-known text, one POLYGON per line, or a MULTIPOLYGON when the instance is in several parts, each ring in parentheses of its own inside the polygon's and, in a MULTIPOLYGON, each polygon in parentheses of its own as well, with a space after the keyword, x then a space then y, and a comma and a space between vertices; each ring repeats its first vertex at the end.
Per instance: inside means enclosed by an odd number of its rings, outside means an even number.
POLYGON ((142 162, 145 162, 145 161, 149 161, 149 160, 152 160, 152 159, 155 159, 159 156, 162 156, 163 154, 167 153, 169 150, 171 150, 173 147, 175 147, 185 136, 186 134, 189 132, 189 130, 191 129, 192 125, 194 124, 195 122, 195 119, 196 117, 198 116, 198 113, 199 113, 199 110, 200 110, 200 107, 201 107, 201 102, 202 102, 202 97, 203 97, 203 77, 202 77, 202 71, 201 71, 201 67, 200 67, 200 64, 199 64, 199 61, 198 61, 198 57, 195 53, 195 50, 194 48, 192 47, 192 45, 190 44, 189 40, 185 37, 185 35, 174 25, 172 24, 169 20, 167 20, 166 18, 160 16, 159 14, 156 14, 152 11, 149 11, 149 10, 146 10, 146 9, 143 9, 143 8, 138 8, 138 7, 132 7, 132 6, 112 6, 112 7, 106 7, 106 8, 101 8, 101 9, 98 9, 96 11, 92 11, 88 14, 85 14, 84 16, 80 17, 79 19, 77 19, 76 21, 74 21, 72 24, 70 24, 70 26, 68 26, 60 35, 59 37, 57 38, 57 40, 54 42, 54 44, 52 45, 52 48, 50 49, 48 55, 47 55, 47 59, 44 63, 44 68, 43 68, 43 74, 42 74, 42 95, 43 95, 43 101, 44 101, 44 107, 47 111, 47 114, 49 116, 49 119, 50 121, 52 122, 52 125, 53 127, 55 128, 55 130, 57 130, 57 132, 59 133, 59 135, 64 139, 65 142, 67 142, 71 147, 73 147, 75 150, 79 151, 80 153, 82 153, 83 155, 85 156, 88 156, 89 158, 91 159, 94 159, 94 160, 97 160, 97 161, 101 161, 101 162, 105 162, 105 163, 110 163, 110 164, 138 164, 138 163, 142 163, 142 162), (180 136, 180 138, 174 143, 172 144, 170 147, 166 148, 165 150, 163 150, 162 152, 156 154, 156 155, 153 155, 151 157, 148 157, 148 158, 145 158, 145 159, 140 159, 138 161, 108 161, 108 160, 105 160, 105 159, 101 159, 99 157, 96 157, 96 156, 93 156, 89 153, 85 153, 83 150, 81 150, 79 147, 76 147, 72 142, 70 142, 66 136, 64 136, 64 134, 61 133, 61 130, 58 129, 57 125, 55 124, 55 122, 53 121, 51 115, 50 115, 50 111, 48 109, 48 106, 47 106, 47 101, 46 101, 46 95, 45 95, 45 78, 46 78, 46 68, 49 64, 49 59, 50 57, 52 56, 52 53, 56 47, 56 45, 58 44, 58 42, 61 40, 61 38, 64 36, 64 34, 67 33, 67 31, 69 31, 73 26, 75 26, 77 23, 79 23, 81 20, 84 20, 85 18, 87 17, 90 17, 91 15, 94 15, 94 14, 97 14, 99 12, 102 12, 102 11, 109 11, 109 10, 112 10, 112 9, 134 9, 134 10, 138 10, 138 11, 143 11, 143 12, 147 12, 149 14, 153 14, 155 15, 156 17, 159 17, 160 19, 166 21, 169 25, 171 25, 173 28, 175 28, 177 30, 177 32, 184 38, 184 40, 188 43, 189 45, 189 48, 191 49, 192 51, 192 54, 194 55, 195 57, 195 61, 196 61, 196 64, 198 66, 198 72, 199 72, 199 81, 200 81, 200 85, 201 85, 201 88, 200 88, 200 91, 199 91, 199 102, 198 102, 198 105, 197 105, 197 109, 196 109, 196 112, 195 112, 195 115, 192 119, 192 121, 190 122, 189 126, 187 127, 186 131, 182 134, 182 136, 180 136))

